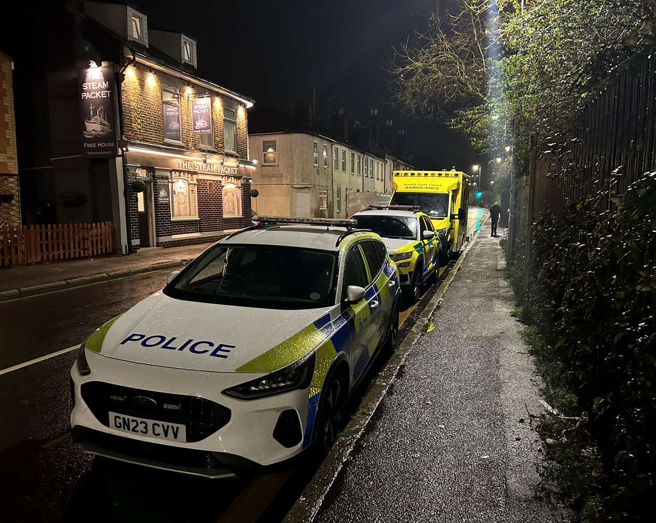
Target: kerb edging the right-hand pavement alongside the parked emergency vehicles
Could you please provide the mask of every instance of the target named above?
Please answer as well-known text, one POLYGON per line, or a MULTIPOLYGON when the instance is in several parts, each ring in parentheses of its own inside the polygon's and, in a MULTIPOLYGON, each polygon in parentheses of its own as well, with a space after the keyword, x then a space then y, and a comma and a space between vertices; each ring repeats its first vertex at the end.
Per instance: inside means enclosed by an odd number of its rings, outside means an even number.
POLYGON ((348 457, 353 452, 369 420, 377 410, 382 399, 386 396, 390 385, 394 383, 407 355, 411 352, 417 339, 426 332, 426 328, 430 324, 430 318, 436 309, 440 307, 441 300, 447 288, 449 288, 469 250, 474 245, 474 242, 476 242, 477 236, 478 232, 475 232, 472 236, 472 241, 462 251, 459 260, 453 265, 451 271, 449 271, 449 275, 447 275, 446 279, 438 287, 438 290, 431 296, 424 309, 420 312, 415 325, 409 330, 400 346, 394 352, 394 355, 390 357, 382 370, 380 370, 379 375, 362 400, 357 412, 352 416, 346 429, 342 431, 340 438, 335 442, 331 452, 323 463, 321 463, 310 483, 308 483, 294 506, 287 513, 283 523, 308 523, 314 521, 326 495, 337 479, 342 467, 344 467, 348 457))

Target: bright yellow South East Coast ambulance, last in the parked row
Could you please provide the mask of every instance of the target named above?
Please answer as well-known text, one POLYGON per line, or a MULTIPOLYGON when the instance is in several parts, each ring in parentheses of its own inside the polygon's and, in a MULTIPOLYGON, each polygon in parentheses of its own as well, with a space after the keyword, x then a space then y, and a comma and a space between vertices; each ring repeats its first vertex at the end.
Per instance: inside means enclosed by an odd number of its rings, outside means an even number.
POLYGON ((461 171, 394 171, 392 205, 419 207, 440 238, 440 265, 457 255, 467 235, 471 176, 461 171))

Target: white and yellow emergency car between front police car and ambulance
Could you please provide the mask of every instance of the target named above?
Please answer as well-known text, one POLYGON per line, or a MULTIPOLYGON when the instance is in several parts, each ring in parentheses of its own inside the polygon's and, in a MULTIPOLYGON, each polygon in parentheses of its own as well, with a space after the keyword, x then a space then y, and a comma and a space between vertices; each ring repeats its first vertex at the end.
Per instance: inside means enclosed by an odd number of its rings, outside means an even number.
POLYGON ((440 273, 440 241, 429 216, 415 206, 369 205, 353 218, 382 237, 399 269, 401 288, 419 300, 424 284, 435 282, 440 273))

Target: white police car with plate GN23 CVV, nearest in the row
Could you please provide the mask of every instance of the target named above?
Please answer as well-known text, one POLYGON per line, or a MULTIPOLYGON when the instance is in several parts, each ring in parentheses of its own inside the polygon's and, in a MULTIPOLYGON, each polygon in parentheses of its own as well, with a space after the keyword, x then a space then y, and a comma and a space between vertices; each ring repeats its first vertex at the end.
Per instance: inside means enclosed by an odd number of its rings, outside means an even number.
POLYGON ((255 220, 82 343, 85 452, 219 478, 331 447, 396 343, 398 271, 354 220, 255 220))

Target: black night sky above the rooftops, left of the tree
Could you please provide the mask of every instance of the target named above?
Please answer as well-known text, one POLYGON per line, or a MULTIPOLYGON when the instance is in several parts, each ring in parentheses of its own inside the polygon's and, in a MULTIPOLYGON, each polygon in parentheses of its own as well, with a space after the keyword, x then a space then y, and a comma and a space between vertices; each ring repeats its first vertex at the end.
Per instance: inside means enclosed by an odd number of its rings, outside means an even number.
MULTIPOLYGON (((451 1, 451 0, 449 0, 451 1)), ((407 151, 420 168, 457 166, 466 172, 476 153, 465 138, 435 121, 411 119, 388 105, 384 66, 392 47, 426 28, 436 0, 132 0, 150 28, 178 30, 198 41, 198 68, 256 100, 293 109, 311 102, 319 123, 333 109, 366 121, 379 109, 405 128, 407 151)), ((441 2, 445 4, 444 1, 441 2)))

